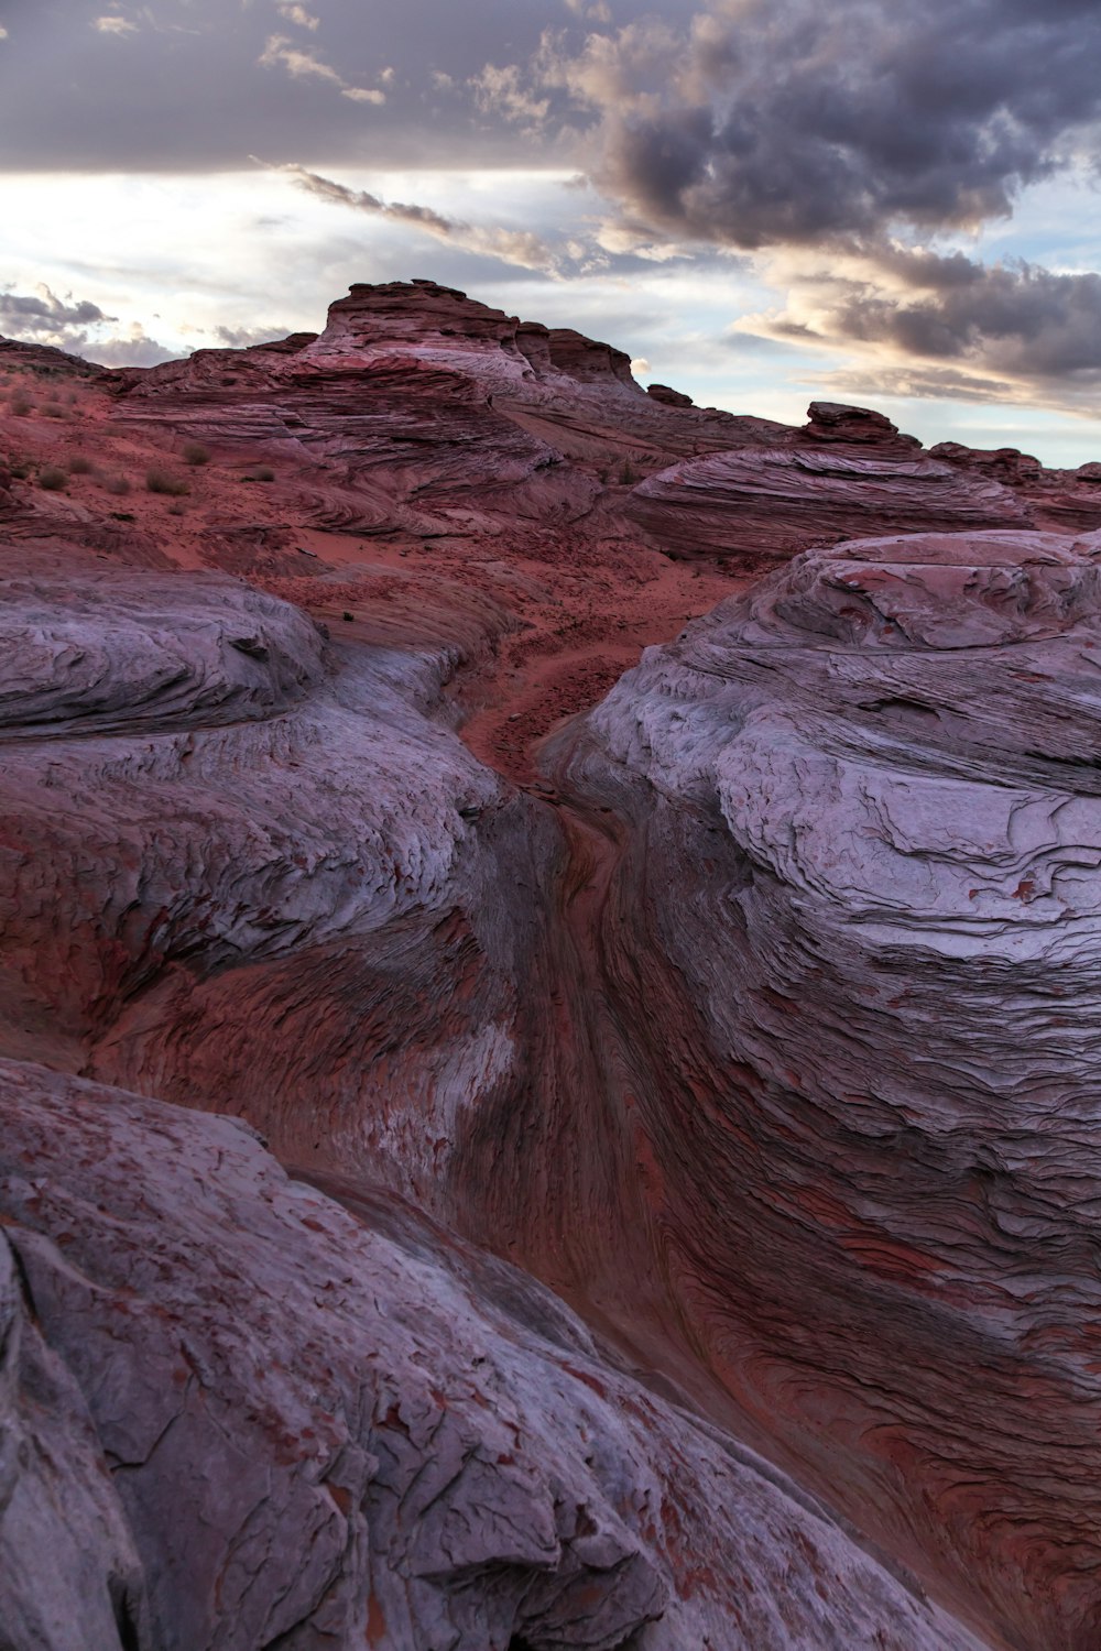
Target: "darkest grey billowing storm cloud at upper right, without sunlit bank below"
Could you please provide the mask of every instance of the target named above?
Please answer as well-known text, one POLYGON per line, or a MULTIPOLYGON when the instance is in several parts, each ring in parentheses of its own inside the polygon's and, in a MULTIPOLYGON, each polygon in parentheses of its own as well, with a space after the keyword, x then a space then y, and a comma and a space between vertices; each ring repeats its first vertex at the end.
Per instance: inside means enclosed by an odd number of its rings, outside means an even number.
POLYGON ((596 117, 629 211, 753 251, 1009 213, 1096 140, 1099 64, 1096 0, 715 0, 548 40, 535 84, 596 117))

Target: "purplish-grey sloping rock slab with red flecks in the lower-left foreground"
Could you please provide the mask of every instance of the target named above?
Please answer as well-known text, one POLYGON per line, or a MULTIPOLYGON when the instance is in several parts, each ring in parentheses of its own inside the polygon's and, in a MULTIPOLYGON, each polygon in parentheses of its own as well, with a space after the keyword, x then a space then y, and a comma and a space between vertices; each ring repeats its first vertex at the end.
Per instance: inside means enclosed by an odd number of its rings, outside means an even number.
MULTIPOLYGON (((348 1212, 228 1119, 41 1068, 0 1063, 0 1255, 87 1403, 109 1511, 83 1611, 64 1567, 0 1572, 8 1643, 976 1644, 609 1369, 548 1291, 409 1207, 360 1192, 348 1212), (125 1631, 104 1615, 122 1580, 125 1631), (35 1608, 61 1630, 25 1634, 35 1608)), ((0 1545, 46 1535, 25 1512, 0 1502, 0 1545)))

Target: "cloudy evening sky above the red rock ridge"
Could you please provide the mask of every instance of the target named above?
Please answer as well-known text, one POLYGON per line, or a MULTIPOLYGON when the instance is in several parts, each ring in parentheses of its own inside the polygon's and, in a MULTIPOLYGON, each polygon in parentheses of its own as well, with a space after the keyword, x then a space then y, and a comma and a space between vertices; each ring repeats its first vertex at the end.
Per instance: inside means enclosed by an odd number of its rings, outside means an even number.
POLYGON ((432 277, 802 423, 1101 459, 1101 0, 0 0, 0 334, 432 277))

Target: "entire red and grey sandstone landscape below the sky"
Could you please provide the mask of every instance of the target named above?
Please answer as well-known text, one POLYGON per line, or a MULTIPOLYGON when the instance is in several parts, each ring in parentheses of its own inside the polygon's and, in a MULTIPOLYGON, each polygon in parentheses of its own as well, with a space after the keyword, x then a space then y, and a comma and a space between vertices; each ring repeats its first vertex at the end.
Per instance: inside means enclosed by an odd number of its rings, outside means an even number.
POLYGON ((428 281, 0 462, 0 1648, 1096 1651, 1101 467, 428 281))

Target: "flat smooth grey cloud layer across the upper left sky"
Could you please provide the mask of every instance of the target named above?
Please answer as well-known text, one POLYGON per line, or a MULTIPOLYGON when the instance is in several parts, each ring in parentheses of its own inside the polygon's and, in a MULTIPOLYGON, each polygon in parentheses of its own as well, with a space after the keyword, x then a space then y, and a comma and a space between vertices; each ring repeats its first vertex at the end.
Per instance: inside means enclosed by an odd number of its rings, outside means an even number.
MULTIPOLYGON (((546 10, 517 0, 472 8, 408 0, 371 7, 365 28, 363 0, 35 0, 18 8, 0 0, 12 31, 3 170, 195 173, 233 170, 249 152, 305 155, 322 170, 545 165, 545 137, 530 122, 479 109, 467 83, 495 53, 500 59, 502 41, 510 59, 527 63, 546 10), (317 28, 300 21, 299 8, 319 18, 317 28), (18 28, 8 12, 18 12, 18 28), (73 15, 79 28, 68 26, 73 15), (94 28, 99 15, 139 26, 112 38, 94 28)), ((568 28, 589 26, 565 7, 561 17, 568 28)))

